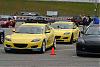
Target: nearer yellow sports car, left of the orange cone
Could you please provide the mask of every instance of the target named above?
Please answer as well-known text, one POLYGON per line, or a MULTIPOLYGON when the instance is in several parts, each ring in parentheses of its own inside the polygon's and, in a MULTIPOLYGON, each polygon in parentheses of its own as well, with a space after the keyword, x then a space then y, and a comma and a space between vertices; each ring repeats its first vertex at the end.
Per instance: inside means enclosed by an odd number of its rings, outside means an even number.
POLYGON ((56 47, 56 39, 53 28, 47 24, 22 24, 12 35, 7 35, 4 41, 5 52, 30 49, 44 53, 49 47, 56 47))

